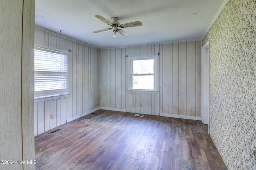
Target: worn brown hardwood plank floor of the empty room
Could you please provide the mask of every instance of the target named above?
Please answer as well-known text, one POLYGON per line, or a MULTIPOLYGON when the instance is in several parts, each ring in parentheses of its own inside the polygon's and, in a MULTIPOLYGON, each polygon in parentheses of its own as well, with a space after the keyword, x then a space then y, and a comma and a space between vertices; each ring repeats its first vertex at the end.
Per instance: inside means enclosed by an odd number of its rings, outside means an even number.
POLYGON ((225 170, 201 121, 99 110, 35 137, 38 170, 225 170))

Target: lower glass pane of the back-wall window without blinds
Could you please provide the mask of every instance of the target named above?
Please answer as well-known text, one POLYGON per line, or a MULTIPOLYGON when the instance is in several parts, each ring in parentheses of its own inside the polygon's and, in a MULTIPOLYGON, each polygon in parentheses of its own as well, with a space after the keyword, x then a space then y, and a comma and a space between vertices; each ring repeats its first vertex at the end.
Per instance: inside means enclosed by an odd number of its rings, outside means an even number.
POLYGON ((132 89, 154 90, 154 75, 132 76, 132 89))

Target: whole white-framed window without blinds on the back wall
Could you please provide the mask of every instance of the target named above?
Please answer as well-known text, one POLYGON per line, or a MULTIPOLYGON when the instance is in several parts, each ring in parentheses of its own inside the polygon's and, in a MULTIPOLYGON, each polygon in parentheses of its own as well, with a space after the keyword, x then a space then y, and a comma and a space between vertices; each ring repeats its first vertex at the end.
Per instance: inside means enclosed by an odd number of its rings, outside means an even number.
POLYGON ((129 92, 157 92, 157 56, 130 58, 129 92))

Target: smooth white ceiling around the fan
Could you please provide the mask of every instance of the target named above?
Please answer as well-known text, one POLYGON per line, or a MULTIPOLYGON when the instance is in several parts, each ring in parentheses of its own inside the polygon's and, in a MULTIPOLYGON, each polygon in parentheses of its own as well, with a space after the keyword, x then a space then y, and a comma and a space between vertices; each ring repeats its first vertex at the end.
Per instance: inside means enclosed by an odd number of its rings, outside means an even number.
POLYGON ((35 25, 102 48, 201 39, 224 0, 36 0, 35 25), (122 28, 129 37, 112 30, 93 33, 109 25, 100 15, 120 24, 141 21, 140 27, 122 28))

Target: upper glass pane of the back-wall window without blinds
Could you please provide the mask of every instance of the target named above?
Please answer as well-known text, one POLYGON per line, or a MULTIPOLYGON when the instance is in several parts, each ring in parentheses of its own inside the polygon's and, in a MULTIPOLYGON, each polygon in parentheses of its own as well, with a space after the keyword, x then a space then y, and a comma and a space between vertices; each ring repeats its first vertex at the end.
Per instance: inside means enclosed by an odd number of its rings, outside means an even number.
POLYGON ((154 74, 154 60, 134 60, 133 74, 154 74))

